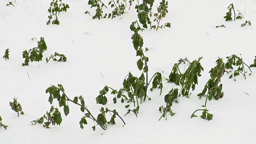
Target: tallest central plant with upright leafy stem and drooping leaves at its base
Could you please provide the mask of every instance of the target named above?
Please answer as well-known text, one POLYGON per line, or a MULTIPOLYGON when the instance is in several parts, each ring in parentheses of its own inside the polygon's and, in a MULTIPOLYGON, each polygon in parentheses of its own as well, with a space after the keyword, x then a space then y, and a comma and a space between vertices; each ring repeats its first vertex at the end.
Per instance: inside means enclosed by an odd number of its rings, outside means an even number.
POLYGON ((142 71, 141 76, 138 78, 137 76, 133 76, 130 72, 126 75, 123 82, 123 88, 120 90, 115 90, 111 87, 105 86, 101 91, 100 94, 96 97, 96 103, 97 104, 106 104, 107 98, 105 94, 107 94, 109 88, 112 90, 111 94, 114 94, 115 97, 113 98, 114 103, 116 103, 116 98, 121 98, 121 102, 124 103, 126 101, 128 104, 125 106, 125 108, 128 108, 130 104, 133 103, 134 108, 133 110, 128 110, 128 113, 130 111, 137 113, 139 112, 140 106, 139 103, 142 103, 142 100, 145 101, 146 98, 151 100, 151 98, 148 97, 148 88, 150 85, 150 82, 152 81, 152 88, 150 90, 154 90, 155 88, 160 88, 160 95, 162 93, 162 75, 160 72, 156 72, 151 79, 148 78, 148 57, 145 56, 144 50, 142 49, 143 46, 143 38, 138 34, 138 30, 143 30, 139 26, 135 27, 135 24, 138 24, 138 22, 132 23, 130 26, 130 29, 134 32, 132 35, 132 43, 134 46, 134 49, 136 50, 136 56, 139 56, 139 60, 137 61, 137 67, 140 71, 142 71), (128 92, 128 96, 125 96, 122 94, 123 91, 128 92), (116 96, 117 94, 117 96, 116 96), (139 102, 140 101, 140 102, 139 102), (136 103, 136 104, 135 104, 136 103))

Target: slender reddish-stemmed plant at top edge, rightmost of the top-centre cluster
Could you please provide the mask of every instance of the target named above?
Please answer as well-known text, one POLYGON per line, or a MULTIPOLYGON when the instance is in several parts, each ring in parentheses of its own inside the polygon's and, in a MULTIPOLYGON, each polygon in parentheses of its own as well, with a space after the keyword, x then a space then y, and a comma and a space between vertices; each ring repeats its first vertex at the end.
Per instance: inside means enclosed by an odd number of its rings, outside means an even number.
POLYGON ((160 20, 162 20, 162 18, 165 18, 166 13, 168 13, 167 8, 168 8, 168 2, 165 0, 162 0, 162 2, 160 2, 160 5, 157 8, 157 13, 154 14, 154 16, 156 17, 154 19, 154 22, 155 21, 157 22, 157 26, 154 25, 154 26, 152 26, 152 28, 154 28, 154 29, 156 28, 156 30, 158 30, 158 28, 162 28, 163 26, 164 26, 164 28, 165 28, 165 26, 167 26, 169 28, 171 27, 170 22, 167 22, 167 23, 163 24, 162 26, 159 26, 160 20))

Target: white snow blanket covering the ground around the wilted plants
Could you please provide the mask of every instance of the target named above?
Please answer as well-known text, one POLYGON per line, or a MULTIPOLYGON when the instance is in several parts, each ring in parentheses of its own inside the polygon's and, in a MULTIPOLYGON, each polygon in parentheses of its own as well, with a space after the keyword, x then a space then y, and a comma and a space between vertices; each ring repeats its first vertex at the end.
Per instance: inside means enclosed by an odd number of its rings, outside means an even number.
MULTIPOLYGON (((120 99, 113 104, 110 92, 106 105, 96 104, 95 100, 105 85, 117 90, 122 88, 129 71, 135 76, 141 74, 136 66, 139 57, 136 57, 131 40, 133 32, 130 31, 130 24, 137 20, 136 1, 130 11, 126 10, 128 13, 113 20, 92 20, 92 16, 84 14, 86 10, 95 13, 95 8, 90 8, 87 0, 62 1, 70 8, 58 16, 60 25, 46 25, 51 0, 16 0, 13 3, 15 7, 6 6, 7 0, 0 2, 0 55, 10 49, 9 60, 0 58, 0 116, 3 124, 9 126, 7 130, 0 127, 0 144, 256 143, 256 68, 251 68, 252 75, 247 74, 246 80, 241 75, 235 77, 236 82, 225 73, 221 80, 224 97, 207 102, 207 109, 214 115, 212 120, 200 118, 202 112, 196 113, 198 117, 190 118, 205 102, 206 96, 199 99, 197 94, 202 92, 210 78, 208 71, 216 65, 218 57, 226 62, 226 56, 242 54, 244 62, 252 64, 256 55, 254 0, 233 0, 244 18, 232 22, 225 22, 223 18, 231 1, 171 0, 168 1, 168 14, 160 22, 170 22, 171 28, 140 32, 144 39, 143 48, 152 48, 145 52, 149 58, 150 78, 157 71, 168 78, 172 66, 180 58, 187 57, 192 61, 203 57, 200 62, 204 71, 190 98, 179 97, 179 103, 171 107, 177 114, 168 115, 167 120, 162 118, 160 121, 158 108, 165 105, 164 95, 172 87, 180 86, 163 81, 161 96, 158 89, 148 90, 152 100, 140 104, 138 118, 132 113, 124 116, 126 104, 122 104, 120 99), (250 20, 252 25, 241 27, 245 20, 250 20), (226 28, 215 28, 222 24, 226 28), (33 37, 36 40, 31 41, 33 37), (22 66, 22 52, 36 47, 40 37, 45 38, 48 47, 43 60, 22 66), (65 54, 67 62, 51 60, 46 63, 46 57, 54 52, 65 54), (50 110, 49 94, 45 90, 51 84, 62 84, 71 99, 84 96, 86 106, 94 116, 100 113, 102 106, 116 109, 126 125, 117 117, 116 124, 108 125, 107 130, 96 126, 96 131, 93 131, 94 123, 88 119, 88 125, 84 125, 82 130, 79 121, 84 113, 79 106, 69 102, 68 116, 64 115, 63 107, 60 108, 63 119, 60 126, 50 125, 50 129, 41 124, 32 126, 32 120, 50 110), (18 97, 25 115, 17 117, 10 108, 9 102, 14 97, 18 97)), ((102 2, 108 4, 108 1, 102 2)), ((159 2, 154 3, 153 13, 159 2)), ((103 11, 107 12, 107 9, 103 11)), ((56 99, 53 105, 58 107, 56 99)))

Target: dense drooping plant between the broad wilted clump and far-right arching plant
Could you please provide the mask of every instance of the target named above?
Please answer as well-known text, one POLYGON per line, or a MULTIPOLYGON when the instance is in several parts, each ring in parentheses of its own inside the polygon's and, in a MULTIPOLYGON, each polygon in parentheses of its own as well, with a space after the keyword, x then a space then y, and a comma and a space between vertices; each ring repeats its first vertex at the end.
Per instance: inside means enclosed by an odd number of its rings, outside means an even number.
POLYGON ((206 107, 207 99, 209 101, 212 100, 212 98, 218 100, 219 98, 222 98, 224 96, 224 93, 222 92, 222 84, 220 83, 220 78, 224 75, 224 72, 226 72, 224 66, 225 64, 222 58, 218 58, 218 60, 216 60, 216 63, 217 65, 214 68, 212 68, 209 72, 211 78, 204 86, 203 91, 197 95, 199 96, 199 98, 201 98, 208 89, 204 107, 206 107))

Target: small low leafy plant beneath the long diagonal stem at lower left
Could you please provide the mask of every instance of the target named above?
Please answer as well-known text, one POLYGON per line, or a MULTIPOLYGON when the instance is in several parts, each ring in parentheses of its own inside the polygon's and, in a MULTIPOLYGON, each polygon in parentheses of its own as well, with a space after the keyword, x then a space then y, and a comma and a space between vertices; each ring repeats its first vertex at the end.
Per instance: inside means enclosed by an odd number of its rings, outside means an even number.
POLYGON ((44 123, 44 128, 50 128, 49 125, 52 123, 52 125, 55 126, 55 124, 59 125, 62 122, 62 117, 60 114, 60 111, 58 108, 54 108, 53 106, 50 109, 50 112, 46 112, 44 116, 41 118, 37 118, 36 120, 33 120, 31 123, 32 125, 35 125, 36 123, 43 124, 44 123), (47 122, 44 122, 46 120, 47 122))

